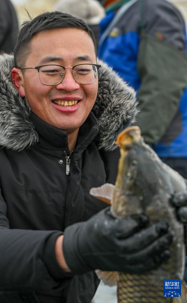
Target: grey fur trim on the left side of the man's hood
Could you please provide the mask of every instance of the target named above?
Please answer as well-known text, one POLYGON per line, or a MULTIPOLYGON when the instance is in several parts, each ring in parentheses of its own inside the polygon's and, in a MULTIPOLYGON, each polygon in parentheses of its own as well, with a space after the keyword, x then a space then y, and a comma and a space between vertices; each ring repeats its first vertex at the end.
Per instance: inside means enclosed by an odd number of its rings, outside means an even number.
POLYGON ((30 108, 12 82, 13 55, 1 55, 0 67, 0 145, 22 151, 38 141, 38 134, 29 120, 30 108))

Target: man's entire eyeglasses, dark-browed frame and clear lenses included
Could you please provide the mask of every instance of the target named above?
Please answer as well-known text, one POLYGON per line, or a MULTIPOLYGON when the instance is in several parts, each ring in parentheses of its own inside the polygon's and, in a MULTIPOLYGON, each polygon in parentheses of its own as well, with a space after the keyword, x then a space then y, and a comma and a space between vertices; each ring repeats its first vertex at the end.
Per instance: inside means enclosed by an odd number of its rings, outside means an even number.
POLYGON ((98 64, 77 64, 72 67, 62 65, 40 65, 35 67, 21 67, 19 69, 37 69, 40 81, 45 85, 59 84, 65 75, 65 68, 72 68, 72 75, 76 82, 80 84, 93 83, 101 65, 98 64))

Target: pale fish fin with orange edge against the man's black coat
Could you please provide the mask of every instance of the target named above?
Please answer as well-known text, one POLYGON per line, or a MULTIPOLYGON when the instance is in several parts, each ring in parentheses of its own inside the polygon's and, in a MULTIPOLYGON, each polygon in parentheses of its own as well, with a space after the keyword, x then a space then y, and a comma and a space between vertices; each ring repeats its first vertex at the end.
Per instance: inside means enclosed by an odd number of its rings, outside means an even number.
POLYGON ((90 195, 111 205, 111 200, 114 194, 114 188, 115 185, 105 183, 100 187, 92 187, 90 189, 90 195))

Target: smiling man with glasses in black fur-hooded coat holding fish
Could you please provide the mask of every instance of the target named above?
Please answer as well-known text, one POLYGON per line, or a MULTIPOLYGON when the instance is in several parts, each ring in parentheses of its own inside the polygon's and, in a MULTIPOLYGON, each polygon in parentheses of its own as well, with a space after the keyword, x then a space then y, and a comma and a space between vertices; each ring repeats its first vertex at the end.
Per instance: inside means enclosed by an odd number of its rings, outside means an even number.
POLYGON ((68 14, 25 22, 14 62, 0 57, 0 302, 88 303, 95 269, 150 270, 172 242, 165 222, 115 219, 89 195, 115 182, 135 93, 68 14))

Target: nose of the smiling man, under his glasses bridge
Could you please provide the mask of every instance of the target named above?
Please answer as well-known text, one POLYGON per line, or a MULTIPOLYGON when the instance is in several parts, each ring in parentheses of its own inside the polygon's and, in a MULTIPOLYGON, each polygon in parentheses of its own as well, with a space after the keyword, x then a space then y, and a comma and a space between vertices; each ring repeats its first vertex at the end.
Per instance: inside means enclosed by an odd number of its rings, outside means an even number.
POLYGON ((64 78, 56 85, 56 89, 63 89, 67 92, 71 92, 78 88, 80 88, 80 84, 75 81, 72 75, 72 68, 66 68, 64 78))

